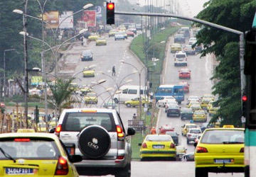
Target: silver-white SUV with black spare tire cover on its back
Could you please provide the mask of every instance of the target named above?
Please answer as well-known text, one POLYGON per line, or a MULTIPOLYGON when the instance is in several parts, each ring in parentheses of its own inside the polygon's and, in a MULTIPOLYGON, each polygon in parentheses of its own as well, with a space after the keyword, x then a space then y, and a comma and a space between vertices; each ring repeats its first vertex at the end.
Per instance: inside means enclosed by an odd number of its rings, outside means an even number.
POLYGON ((116 110, 73 108, 63 110, 55 135, 70 154, 79 154, 75 163, 80 175, 131 176, 132 149, 129 135, 135 130, 124 125, 116 110))

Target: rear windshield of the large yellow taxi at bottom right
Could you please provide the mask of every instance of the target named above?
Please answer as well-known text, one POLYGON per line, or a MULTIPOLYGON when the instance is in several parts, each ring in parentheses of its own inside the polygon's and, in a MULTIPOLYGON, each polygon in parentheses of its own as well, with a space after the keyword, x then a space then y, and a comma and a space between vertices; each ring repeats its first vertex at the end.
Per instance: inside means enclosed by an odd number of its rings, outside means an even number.
POLYGON ((242 130, 210 130, 201 137, 205 144, 243 144, 245 135, 242 130))

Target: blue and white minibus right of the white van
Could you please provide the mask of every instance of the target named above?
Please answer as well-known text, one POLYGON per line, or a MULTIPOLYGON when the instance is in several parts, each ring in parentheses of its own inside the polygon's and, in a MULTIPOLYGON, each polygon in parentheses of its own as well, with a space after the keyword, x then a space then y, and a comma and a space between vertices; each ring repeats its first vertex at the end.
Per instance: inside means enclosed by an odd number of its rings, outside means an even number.
POLYGON ((161 85, 156 90, 155 98, 156 102, 163 99, 164 96, 174 96, 178 104, 184 101, 184 91, 181 85, 161 85))

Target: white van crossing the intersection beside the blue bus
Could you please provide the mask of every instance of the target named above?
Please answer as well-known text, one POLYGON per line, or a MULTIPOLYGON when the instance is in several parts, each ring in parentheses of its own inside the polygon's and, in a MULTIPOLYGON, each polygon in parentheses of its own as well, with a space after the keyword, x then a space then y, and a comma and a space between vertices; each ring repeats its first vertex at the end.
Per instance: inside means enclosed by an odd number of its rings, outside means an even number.
POLYGON ((120 93, 114 94, 114 102, 118 103, 129 101, 133 98, 138 98, 139 93, 144 96, 146 93, 146 87, 141 86, 141 91, 139 92, 139 86, 121 86, 119 89, 120 93))

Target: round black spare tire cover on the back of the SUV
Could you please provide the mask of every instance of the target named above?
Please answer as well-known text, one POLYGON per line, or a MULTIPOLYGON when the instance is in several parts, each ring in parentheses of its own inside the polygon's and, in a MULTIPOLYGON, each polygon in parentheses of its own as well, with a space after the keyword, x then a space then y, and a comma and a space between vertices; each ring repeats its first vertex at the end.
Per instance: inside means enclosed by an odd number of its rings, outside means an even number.
POLYGON ((110 149, 111 139, 107 130, 98 125, 85 127, 78 137, 78 147, 90 159, 105 156, 110 149))

